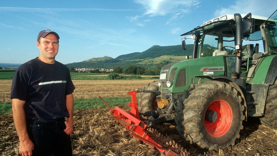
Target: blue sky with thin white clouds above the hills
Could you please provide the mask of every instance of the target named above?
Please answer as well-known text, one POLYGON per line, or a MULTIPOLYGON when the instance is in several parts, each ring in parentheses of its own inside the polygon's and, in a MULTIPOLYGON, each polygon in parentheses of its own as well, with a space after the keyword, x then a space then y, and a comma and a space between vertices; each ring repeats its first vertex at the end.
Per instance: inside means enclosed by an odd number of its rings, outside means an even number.
POLYGON ((39 56, 39 31, 60 36, 56 60, 143 52, 181 44, 180 35, 224 14, 269 17, 272 0, 0 0, 0 63, 22 64, 39 56))

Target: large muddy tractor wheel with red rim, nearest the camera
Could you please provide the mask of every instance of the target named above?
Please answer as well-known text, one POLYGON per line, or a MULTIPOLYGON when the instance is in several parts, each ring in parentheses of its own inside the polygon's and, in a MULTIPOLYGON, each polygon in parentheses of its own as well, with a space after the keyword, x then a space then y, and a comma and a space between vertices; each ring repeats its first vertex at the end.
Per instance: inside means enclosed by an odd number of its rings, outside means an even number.
POLYGON ((177 131, 203 149, 233 146, 245 119, 241 101, 238 91, 227 83, 197 84, 183 102, 183 125, 176 124, 177 131))

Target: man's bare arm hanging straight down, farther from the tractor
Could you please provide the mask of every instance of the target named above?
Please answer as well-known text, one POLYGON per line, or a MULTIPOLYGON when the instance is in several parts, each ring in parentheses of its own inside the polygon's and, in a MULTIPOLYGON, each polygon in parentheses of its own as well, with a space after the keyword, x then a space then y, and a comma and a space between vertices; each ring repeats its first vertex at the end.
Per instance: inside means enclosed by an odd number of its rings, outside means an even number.
POLYGON ((32 155, 32 150, 34 149, 34 143, 30 140, 27 133, 24 105, 25 101, 12 99, 14 126, 19 137, 19 154, 22 154, 23 156, 30 156, 32 155))

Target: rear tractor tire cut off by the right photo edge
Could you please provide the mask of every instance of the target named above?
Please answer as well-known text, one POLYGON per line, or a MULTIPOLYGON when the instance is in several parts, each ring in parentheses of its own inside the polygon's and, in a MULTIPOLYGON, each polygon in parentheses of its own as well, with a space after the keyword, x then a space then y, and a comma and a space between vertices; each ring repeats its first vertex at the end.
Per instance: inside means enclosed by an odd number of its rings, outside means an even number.
POLYGON ((268 88, 266 109, 261 123, 270 128, 277 128, 277 81, 268 88))

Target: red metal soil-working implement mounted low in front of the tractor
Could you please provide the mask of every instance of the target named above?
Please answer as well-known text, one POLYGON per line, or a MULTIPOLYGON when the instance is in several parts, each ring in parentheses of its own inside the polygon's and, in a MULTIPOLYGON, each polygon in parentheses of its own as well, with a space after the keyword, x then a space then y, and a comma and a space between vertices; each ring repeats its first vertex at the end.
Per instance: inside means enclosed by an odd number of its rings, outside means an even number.
POLYGON ((99 98, 110 108, 110 113, 113 114, 115 120, 125 121, 123 123, 124 127, 130 130, 130 134, 135 138, 138 138, 139 140, 146 142, 151 146, 154 146, 157 150, 159 150, 159 152, 165 154, 166 156, 189 155, 186 150, 183 150, 183 148, 181 148, 177 144, 177 148, 172 150, 172 148, 170 149, 168 147, 163 147, 149 136, 147 132, 151 133, 152 136, 155 137, 156 131, 154 131, 153 129, 148 130, 147 125, 139 119, 136 93, 138 93, 138 91, 128 92, 128 94, 131 95, 132 99, 132 102, 128 103, 128 105, 132 107, 130 113, 125 112, 117 106, 115 106, 114 109, 111 109, 111 107, 100 96, 99 98), (153 134, 152 132, 155 133, 153 134))

